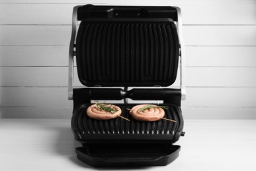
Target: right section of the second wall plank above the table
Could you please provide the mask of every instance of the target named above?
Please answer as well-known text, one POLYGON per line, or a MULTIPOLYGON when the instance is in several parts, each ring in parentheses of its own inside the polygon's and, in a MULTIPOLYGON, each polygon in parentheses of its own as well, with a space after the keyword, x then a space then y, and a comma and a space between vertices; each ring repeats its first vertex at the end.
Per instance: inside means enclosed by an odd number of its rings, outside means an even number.
POLYGON ((256 107, 255 87, 187 87, 184 107, 256 107))

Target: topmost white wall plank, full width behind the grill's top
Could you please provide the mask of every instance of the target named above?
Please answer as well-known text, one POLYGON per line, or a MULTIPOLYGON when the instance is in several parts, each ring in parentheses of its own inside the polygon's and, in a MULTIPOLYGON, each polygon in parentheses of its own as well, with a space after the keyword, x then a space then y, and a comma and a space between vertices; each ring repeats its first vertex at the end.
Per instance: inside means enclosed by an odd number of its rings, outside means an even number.
MULTIPOLYGON (((13 1, 12 1, 13 2, 13 1)), ((1 24, 71 24, 73 7, 82 1, 4 3, 1 24), (50 4, 49 4, 50 3, 50 4)), ((88 2, 90 3, 90 2, 88 2)), ((97 5, 95 1, 92 4, 97 5)), ((100 3, 98 3, 100 4, 100 3)), ((256 2, 247 1, 101 1, 101 5, 172 5, 182 10, 183 24, 256 24, 256 2), (230 5, 232 3, 232 5, 230 5), (243 12, 240 12, 243 11, 243 12)))

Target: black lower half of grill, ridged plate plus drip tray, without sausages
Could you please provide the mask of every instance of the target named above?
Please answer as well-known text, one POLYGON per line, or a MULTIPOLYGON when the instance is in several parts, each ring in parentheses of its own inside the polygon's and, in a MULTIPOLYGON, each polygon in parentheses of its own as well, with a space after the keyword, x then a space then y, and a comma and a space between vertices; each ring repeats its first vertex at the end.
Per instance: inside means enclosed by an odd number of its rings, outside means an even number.
POLYGON ((90 105, 77 107, 71 120, 75 139, 83 144, 75 149, 79 160, 95 167, 162 166, 179 156, 181 147, 173 143, 182 134, 183 117, 176 105, 161 104, 169 107, 165 109, 165 118, 177 122, 135 120, 127 109, 136 104, 116 104, 130 122, 119 117, 95 120, 86 114, 90 105))

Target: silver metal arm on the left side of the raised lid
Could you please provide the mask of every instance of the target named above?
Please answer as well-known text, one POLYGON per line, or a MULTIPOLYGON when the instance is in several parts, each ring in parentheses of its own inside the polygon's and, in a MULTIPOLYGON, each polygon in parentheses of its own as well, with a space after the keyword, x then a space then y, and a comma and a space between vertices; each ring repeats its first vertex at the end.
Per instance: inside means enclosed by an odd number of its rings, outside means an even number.
POLYGON ((82 7, 81 5, 73 8, 72 15, 72 32, 69 44, 69 58, 68 58, 68 99, 73 99, 73 87, 74 87, 74 45, 75 36, 77 32, 77 9, 82 7))

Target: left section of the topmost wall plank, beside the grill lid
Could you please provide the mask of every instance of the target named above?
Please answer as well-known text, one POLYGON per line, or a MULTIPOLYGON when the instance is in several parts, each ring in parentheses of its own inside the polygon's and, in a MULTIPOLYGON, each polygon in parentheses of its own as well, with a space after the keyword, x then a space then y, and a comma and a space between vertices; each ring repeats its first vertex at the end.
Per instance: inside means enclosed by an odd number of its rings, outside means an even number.
POLYGON ((3 4, 0 24, 71 24, 75 4, 3 4))

